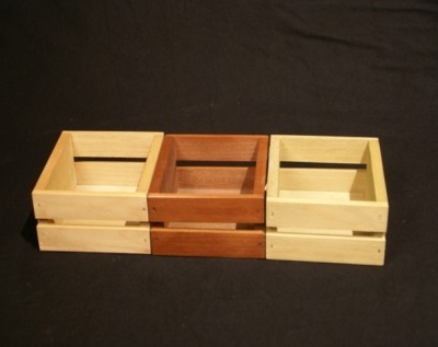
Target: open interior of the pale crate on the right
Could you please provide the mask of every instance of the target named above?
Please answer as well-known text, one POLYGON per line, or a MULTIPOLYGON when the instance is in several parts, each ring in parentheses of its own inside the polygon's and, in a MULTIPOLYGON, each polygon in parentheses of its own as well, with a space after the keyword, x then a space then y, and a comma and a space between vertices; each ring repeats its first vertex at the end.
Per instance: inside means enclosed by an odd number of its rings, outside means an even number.
POLYGON ((368 158, 367 141, 362 139, 281 139, 278 196, 314 200, 373 200, 368 158))

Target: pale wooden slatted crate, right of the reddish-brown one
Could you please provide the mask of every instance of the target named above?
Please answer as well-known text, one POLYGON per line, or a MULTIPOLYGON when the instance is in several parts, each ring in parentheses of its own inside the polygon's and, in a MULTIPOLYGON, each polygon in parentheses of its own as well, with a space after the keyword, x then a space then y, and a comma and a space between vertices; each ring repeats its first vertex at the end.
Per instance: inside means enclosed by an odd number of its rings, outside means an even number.
POLYGON ((267 258, 383 265, 388 211, 378 139, 270 137, 267 258))

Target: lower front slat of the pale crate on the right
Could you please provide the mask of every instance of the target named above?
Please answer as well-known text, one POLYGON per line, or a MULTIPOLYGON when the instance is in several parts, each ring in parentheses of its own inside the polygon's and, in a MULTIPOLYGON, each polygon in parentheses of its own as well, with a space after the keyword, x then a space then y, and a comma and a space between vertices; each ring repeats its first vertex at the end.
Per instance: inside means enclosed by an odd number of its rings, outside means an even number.
POLYGON ((266 232, 267 259, 383 265, 384 251, 384 234, 343 236, 266 232))

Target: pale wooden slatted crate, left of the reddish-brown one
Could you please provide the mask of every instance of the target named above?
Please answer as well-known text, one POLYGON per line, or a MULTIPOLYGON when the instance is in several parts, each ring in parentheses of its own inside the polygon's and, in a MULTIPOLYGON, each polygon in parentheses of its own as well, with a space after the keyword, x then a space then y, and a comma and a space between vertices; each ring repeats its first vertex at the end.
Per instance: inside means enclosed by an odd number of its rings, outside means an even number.
POLYGON ((64 131, 32 192, 39 248, 150 254, 147 193, 162 140, 64 131))

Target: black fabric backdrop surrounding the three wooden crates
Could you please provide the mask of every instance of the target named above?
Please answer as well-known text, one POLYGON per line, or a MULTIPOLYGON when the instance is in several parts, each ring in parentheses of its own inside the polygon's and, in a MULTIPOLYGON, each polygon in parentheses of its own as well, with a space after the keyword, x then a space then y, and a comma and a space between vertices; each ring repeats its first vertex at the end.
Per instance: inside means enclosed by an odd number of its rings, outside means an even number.
POLYGON ((438 345, 436 1, 0 5, 0 344, 438 345), (372 136, 384 267, 39 252, 64 129, 372 136))

